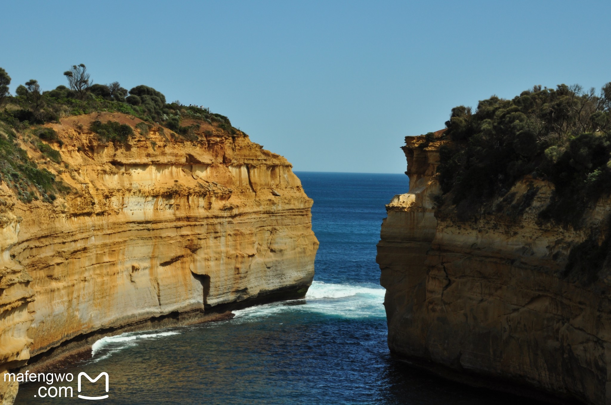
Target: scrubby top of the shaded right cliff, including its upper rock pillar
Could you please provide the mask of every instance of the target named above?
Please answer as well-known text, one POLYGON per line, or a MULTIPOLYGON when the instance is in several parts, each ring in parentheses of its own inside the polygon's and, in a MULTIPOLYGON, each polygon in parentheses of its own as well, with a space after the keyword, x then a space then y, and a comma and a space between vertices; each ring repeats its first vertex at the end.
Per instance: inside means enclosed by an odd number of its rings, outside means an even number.
POLYGON ((455 107, 446 126, 406 138, 413 201, 458 228, 573 240, 551 256, 582 285, 609 274, 611 83, 598 95, 558 85, 493 96, 475 112, 455 107))

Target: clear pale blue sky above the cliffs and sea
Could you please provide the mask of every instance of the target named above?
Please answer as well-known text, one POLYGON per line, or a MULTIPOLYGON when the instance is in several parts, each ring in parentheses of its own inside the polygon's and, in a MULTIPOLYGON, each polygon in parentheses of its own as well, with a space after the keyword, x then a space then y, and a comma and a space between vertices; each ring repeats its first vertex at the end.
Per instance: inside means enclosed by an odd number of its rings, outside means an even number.
POLYGON ((405 135, 541 84, 611 81, 611 1, 12 1, 0 67, 85 63, 229 116, 295 170, 403 173, 405 135))

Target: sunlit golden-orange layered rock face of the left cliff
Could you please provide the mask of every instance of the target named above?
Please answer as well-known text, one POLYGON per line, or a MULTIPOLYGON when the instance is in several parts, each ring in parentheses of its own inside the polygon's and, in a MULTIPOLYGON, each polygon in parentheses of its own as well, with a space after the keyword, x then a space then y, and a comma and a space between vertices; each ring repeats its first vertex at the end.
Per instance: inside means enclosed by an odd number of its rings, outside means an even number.
MULTIPOLYGON (((47 124, 60 164, 21 138, 71 187, 53 204, 0 185, 0 373, 95 331, 305 295, 312 199, 284 157, 206 125, 192 142, 153 127, 104 143, 84 129, 93 120, 141 122, 96 113, 47 124)), ((16 384, 0 384, 0 403, 12 403, 16 384)))

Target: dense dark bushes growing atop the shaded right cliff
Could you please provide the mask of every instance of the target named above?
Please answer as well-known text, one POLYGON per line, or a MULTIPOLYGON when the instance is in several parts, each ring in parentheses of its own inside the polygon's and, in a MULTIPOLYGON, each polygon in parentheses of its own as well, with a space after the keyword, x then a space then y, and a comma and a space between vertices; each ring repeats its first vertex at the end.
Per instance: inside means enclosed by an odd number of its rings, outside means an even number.
POLYGON ((492 96, 452 109, 440 150, 439 180, 452 204, 481 207, 526 174, 555 185, 547 220, 578 225, 589 203, 611 192, 611 83, 558 85, 492 96), (449 193, 449 194, 448 194, 449 193))

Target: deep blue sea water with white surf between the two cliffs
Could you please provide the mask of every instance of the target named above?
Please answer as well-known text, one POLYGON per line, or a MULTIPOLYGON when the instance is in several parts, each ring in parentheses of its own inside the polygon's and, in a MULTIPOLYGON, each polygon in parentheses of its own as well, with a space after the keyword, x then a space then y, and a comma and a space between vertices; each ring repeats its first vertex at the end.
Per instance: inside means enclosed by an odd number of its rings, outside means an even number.
MULTIPOLYGON (((76 375, 109 374, 104 404, 524 404, 446 381, 393 359, 386 345, 376 243, 384 204, 404 174, 297 173, 314 200, 320 241, 305 299, 236 311, 233 320, 98 340, 73 373, 74 398, 40 398, 22 384, 16 404, 76 399, 76 375)), ((43 393, 45 390, 43 390, 43 393)))

